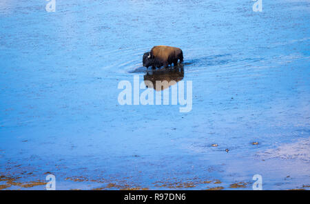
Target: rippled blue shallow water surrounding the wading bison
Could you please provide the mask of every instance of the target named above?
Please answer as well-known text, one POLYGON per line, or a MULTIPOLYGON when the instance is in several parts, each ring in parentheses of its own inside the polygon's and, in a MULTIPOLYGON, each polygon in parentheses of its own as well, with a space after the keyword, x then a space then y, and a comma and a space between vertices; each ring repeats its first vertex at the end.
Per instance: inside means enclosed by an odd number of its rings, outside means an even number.
POLYGON ((0 187, 309 189, 309 1, 46 3, 0 3, 0 187), (143 68, 154 45, 182 68, 143 68), (192 81, 192 111, 119 105, 136 74, 192 81))

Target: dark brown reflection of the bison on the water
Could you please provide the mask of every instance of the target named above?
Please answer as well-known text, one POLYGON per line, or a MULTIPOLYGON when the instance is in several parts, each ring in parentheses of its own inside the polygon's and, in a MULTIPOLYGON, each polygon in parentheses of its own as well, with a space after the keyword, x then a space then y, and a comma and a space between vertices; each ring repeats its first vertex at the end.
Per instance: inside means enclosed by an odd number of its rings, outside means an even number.
POLYGON ((171 85, 175 85, 184 77, 184 65, 179 64, 174 68, 163 68, 161 70, 153 70, 144 75, 144 83, 147 88, 154 88, 156 91, 165 90, 171 85), (160 84, 156 81, 161 81, 160 84), (165 83, 167 81, 167 83, 165 83))

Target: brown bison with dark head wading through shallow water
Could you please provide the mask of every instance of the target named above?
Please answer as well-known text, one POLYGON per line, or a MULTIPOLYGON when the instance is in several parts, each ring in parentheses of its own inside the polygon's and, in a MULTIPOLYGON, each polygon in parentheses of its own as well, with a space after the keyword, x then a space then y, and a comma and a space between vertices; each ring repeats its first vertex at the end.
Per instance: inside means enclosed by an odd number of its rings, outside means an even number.
POLYGON ((154 46, 150 52, 143 54, 143 66, 149 68, 152 66, 153 69, 160 68, 168 65, 183 63, 183 52, 180 48, 174 48, 165 45, 154 46))

